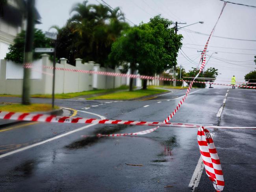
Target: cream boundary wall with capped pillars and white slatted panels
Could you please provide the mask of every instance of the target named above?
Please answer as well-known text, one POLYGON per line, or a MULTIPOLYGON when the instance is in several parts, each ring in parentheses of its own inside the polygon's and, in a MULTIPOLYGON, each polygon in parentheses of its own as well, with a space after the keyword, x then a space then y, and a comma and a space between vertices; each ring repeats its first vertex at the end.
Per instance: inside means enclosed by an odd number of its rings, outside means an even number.
MULTIPOLYGON (((97 70, 120 73, 118 69, 100 67, 93 61, 82 63, 82 59, 76 59, 76 66, 69 65, 67 59, 60 59, 56 67, 97 70)), ((51 94, 52 93, 52 69, 41 66, 53 66, 49 55, 43 54, 40 60, 33 62, 31 93, 30 94, 51 94)), ((23 68, 21 64, 0 60, 0 94, 22 94, 23 68)), ((56 70, 55 93, 82 92, 92 89, 112 89, 122 85, 121 77, 102 76, 97 74, 85 74, 56 70)))

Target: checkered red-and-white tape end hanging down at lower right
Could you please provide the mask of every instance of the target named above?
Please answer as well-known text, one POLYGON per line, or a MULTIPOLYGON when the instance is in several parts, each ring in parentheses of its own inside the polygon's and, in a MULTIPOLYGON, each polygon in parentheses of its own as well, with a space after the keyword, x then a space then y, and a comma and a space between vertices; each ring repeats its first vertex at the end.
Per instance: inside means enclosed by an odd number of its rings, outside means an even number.
POLYGON ((199 127, 197 131, 197 141, 200 153, 204 162, 206 174, 213 183, 217 192, 224 188, 224 178, 221 169, 221 162, 214 146, 210 132, 204 127, 199 127))

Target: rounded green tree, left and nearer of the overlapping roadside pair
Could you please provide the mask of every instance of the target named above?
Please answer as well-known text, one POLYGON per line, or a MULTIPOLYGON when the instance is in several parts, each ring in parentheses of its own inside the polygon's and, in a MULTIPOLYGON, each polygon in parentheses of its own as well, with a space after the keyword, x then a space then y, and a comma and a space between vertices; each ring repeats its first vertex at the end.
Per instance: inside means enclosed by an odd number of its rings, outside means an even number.
MULTIPOLYGON (((160 52, 163 52, 163 41, 154 37, 154 31, 148 24, 141 24, 122 33, 113 43, 109 59, 117 65, 130 63, 131 74, 139 70, 141 75, 152 75, 160 61, 160 52)), ((130 78, 130 91, 132 84, 133 79, 130 78)))

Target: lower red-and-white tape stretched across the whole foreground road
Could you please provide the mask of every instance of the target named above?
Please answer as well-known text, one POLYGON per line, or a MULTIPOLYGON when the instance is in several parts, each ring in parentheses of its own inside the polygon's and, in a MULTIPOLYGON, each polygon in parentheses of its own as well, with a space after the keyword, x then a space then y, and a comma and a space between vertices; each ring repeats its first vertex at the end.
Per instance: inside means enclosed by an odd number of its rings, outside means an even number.
MULTIPOLYGON (((32 114, 32 113, 14 113, 14 112, 6 112, 6 111, 0 111, 0 119, 38 121, 38 122, 56 122, 56 123, 123 124, 123 125, 132 125, 132 126, 160 126, 160 127, 187 127, 187 128, 193 128, 193 127, 198 128, 201 126, 199 124, 196 125, 196 124, 189 124, 189 123, 173 123, 173 122, 163 123, 163 122, 110 120, 110 119, 102 120, 102 119, 95 119, 95 118, 81 118, 81 117, 73 118, 68 116, 56 116, 56 115, 32 114)), ((221 126, 204 126, 204 127, 221 128, 221 129, 256 129, 256 127, 221 127, 221 126)), ((141 134, 137 134, 137 135, 141 135, 141 134)))

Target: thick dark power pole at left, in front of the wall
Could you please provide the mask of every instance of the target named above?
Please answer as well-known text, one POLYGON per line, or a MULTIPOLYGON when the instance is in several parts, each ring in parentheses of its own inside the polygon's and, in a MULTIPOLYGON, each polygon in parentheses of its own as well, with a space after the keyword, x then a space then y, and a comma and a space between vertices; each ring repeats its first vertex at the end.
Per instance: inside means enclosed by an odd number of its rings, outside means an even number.
POLYGON ((22 86, 22 104, 30 104, 30 74, 31 69, 26 67, 32 64, 33 59, 33 37, 34 37, 34 11, 35 0, 27 1, 27 30, 25 39, 25 53, 24 53, 24 75, 22 86))

